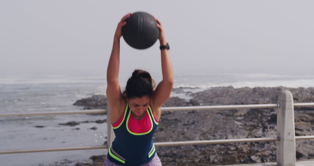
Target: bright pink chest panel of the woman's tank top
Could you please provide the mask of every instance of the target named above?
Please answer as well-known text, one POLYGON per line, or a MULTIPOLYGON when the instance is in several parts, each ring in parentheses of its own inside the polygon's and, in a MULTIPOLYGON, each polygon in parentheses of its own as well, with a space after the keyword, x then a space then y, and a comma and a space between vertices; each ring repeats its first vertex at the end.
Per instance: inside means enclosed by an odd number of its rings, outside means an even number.
POLYGON ((127 118, 127 129, 131 134, 143 135, 149 133, 153 129, 153 122, 149 116, 148 111, 145 112, 144 117, 137 120, 131 115, 131 111, 127 118))

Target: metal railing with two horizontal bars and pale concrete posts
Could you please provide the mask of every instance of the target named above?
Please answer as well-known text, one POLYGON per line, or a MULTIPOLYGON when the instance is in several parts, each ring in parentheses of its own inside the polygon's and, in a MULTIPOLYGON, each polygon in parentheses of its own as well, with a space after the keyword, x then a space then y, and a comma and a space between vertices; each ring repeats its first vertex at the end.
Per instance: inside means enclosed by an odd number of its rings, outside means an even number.
MULTIPOLYGON (((295 140, 314 139, 314 136, 294 136, 294 109, 295 107, 312 107, 314 103, 293 103, 293 97, 290 91, 283 91, 277 104, 248 104, 248 105, 222 105, 222 106, 188 106, 188 107, 164 107, 161 111, 192 111, 192 110, 222 110, 222 109, 240 109, 240 108, 279 108, 277 111, 277 135, 275 138, 245 138, 245 139, 223 139, 223 140, 198 140, 198 141, 174 141, 174 142, 155 142, 155 146, 180 146, 180 145, 199 145, 199 144, 224 144, 235 142, 260 142, 260 141, 277 141, 277 164, 286 165, 292 163, 295 165, 295 140), (292 124, 292 126, 291 126, 292 124), (287 134, 289 133, 289 134, 287 134), (293 138, 291 141, 291 138, 293 138), (290 141, 289 141, 290 140, 290 141), (290 142, 294 151, 284 150, 284 147, 290 142), (292 142, 292 144, 291 144, 292 142), (293 145, 294 144, 294 145, 293 145), (294 158, 294 162, 293 159, 294 158), (290 158, 290 160, 289 160, 290 158)), ((41 113, 14 113, 0 114, 0 117, 12 116, 37 116, 37 115, 59 115, 59 114, 87 114, 87 113, 107 113, 110 115, 109 107, 107 110, 80 110, 68 112, 41 112, 41 113)), ((107 143, 110 146, 114 139, 113 129, 110 120, 107 120, 107 143)), ((12 153, 29 153, 29 152, 52 152, 52 151, 69 151, 69 150, 87 150, 87 149, 106 149, 108 146, 89 146, 89 147, 60 147, 44 149, 26 149, 26 150, 7 150, 0 151, 0 154, 12 153)))

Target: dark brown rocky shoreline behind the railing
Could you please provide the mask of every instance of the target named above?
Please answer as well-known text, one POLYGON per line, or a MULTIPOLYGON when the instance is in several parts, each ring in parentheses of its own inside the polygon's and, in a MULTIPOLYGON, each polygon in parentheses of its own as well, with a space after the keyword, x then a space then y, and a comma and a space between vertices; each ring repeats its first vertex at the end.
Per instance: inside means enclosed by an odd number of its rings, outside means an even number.
MULTIPOLYGON (((182 93, 182 89, 176 88, 173 92, 182 93)), ((314 102, 314 88, 244 87, 235 89, 230 86, 211 88, 198 93, 186 92, 192 97, 190 101, 171 97, 165 103, 165 107, 277 103, 278 96, 283 90, 291 91, 296 103, 314 102)), ((84 109, 103 109, 106 108, 106 97, 96 95, 77 101, 76 104, 78 103, 84 106, 84 109)), ((273 108, 165 111, 161 114, 153 141, 276 137, 276 120, 276 109, 273 108)), ((313 130, 314 108, 296 108, 295 135, 314 135, 313 130)), ((226 165, 276 161, 275 142, 156 147, 156 150, 163 165, 226 165)), ((92 156, 91 163, 76 163, 76 165, 102 165, 104 158, 105 155, 92 156)), ((296 158, 314 158, 314 140, 297 141, 296 158)), ((59 165, 68 164, 63 162, 59 165)))

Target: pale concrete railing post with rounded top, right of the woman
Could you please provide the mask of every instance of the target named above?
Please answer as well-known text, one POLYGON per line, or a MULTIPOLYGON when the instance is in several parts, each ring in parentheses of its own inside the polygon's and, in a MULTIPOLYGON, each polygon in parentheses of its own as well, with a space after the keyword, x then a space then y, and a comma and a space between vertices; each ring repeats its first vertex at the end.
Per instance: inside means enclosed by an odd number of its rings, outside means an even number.
POLYGON ((277 109, 277 166, 295 166, 295 123, 293 97, 290 91, 283 91, 277 109))

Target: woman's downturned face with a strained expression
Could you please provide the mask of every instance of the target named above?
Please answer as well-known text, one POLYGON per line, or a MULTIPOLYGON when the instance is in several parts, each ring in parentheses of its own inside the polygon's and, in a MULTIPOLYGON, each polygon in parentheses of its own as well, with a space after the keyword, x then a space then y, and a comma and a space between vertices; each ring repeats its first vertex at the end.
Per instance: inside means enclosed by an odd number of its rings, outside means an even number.
POLYGON ((129 107, 133 115, 136 115, 136 117, 141 117, 149 107, 149 96, 131 98, 127 99, 127 101, 129 102, 129 107))

